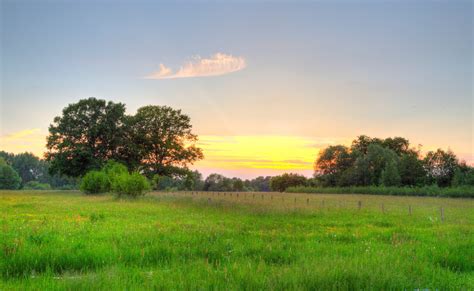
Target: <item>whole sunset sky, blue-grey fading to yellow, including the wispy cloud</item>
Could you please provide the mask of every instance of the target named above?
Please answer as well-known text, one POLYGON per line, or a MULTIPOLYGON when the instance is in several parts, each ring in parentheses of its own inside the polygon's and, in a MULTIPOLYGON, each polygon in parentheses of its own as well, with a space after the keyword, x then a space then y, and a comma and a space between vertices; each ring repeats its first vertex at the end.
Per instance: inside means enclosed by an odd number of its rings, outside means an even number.
POLYGON ((0 3, 0 150, 94 96, 182 109, 205 175, 309 176, 361 134, 474 162, 472 1, 0 3))

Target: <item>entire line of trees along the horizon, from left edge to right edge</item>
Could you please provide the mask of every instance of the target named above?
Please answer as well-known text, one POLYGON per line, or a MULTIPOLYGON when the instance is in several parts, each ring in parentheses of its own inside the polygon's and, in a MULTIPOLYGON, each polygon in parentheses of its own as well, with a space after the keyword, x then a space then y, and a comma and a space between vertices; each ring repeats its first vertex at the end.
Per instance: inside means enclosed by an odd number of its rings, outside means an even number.
MULTIPOLYGON (((0 152, 0 188, 77 187, 79 179, 91 171, 103 170, 109 162, 124 165, 129 173, 143 175, 155 190, 474 185, 473 168, 450 150, 438 149, 423 156, 403 137, 380 139, 365 135, 350 146, 332 145, 321 150, 309 179, 293 173, 252 180, 211 174, 203 179, 201 173, 189 169, 204 158, 202 149, 196 146, 197 139, 189 116, 181 110, 149 105, 129 115, 122 103, 94 97, 82 99, 66 106, 49 126, 45 159, 30 153, 0 152)), ((103 179, 104 175, 94 177, 103 179)), ((123 179, 131 176, 127 177, 123 179)))

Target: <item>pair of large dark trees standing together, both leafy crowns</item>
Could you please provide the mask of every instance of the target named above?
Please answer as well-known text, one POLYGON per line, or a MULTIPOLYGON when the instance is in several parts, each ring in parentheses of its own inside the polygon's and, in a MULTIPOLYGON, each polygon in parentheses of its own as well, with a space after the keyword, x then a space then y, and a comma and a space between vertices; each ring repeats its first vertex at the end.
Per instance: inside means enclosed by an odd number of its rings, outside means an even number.
POLYGON ((187 172, 203 158, 190 118, 167 106, 145 106, 134 116, 125 105, 96 98, 63 109, 49 127, 46 159, 52 173, 80 177, 115 160, 147 176, 187 172))

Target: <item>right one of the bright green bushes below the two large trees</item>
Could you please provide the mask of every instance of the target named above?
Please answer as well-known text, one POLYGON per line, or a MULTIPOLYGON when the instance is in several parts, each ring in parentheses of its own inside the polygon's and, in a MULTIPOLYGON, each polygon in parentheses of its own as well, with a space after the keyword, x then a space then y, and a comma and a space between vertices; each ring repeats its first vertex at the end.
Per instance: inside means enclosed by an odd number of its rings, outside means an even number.
POLYGON ((129 196, 138 197, 145 195, 151 189, 147 178, 137 172, 132 174, 124 173, 115 177, 112 190, 118 197, 129 196))

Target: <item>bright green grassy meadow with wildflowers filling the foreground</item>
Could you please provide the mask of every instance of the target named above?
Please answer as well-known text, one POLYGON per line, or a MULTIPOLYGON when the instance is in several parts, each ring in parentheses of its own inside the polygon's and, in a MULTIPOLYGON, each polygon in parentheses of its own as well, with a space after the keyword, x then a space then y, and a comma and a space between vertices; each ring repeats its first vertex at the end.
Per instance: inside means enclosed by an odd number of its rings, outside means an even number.
POLYGON ((0 290, 474 289, 472 199, 1 191, 0 228, 0 290))

